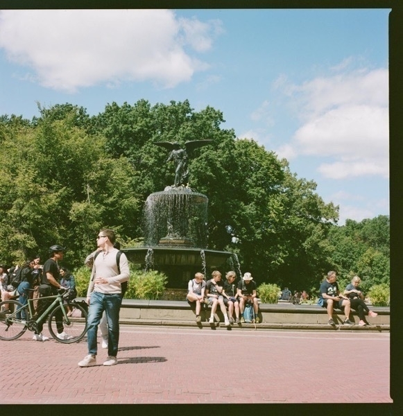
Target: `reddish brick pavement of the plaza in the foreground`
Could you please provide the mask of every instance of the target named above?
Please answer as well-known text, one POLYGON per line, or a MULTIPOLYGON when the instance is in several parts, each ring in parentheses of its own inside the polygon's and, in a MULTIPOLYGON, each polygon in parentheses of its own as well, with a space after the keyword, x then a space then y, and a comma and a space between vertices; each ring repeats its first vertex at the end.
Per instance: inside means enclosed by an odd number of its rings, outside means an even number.
POLYGON ((119 365, 104 367, 99 345, 88 368, 77 365, 86 342, 31 338, 0 341, 12 363, 0 372, 2 404, 392 403, 385 332, 121 325, 119 365), (328 390, 325 368, 338 380, 328 390))

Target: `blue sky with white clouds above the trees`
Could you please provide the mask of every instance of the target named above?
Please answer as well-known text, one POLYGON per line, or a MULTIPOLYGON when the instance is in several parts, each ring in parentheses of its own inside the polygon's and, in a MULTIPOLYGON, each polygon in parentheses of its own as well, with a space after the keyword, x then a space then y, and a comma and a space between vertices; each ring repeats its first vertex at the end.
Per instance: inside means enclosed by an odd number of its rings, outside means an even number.
POLYGON ((189 100, 316 182, 339 225, 389 215, 389 12, 2 10, 0 115, 189 100))

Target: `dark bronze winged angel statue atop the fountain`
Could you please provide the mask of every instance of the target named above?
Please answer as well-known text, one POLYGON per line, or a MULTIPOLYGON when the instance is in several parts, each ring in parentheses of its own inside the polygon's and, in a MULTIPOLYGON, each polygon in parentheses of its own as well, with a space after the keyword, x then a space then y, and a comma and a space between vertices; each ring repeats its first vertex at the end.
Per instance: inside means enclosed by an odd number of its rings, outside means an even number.
POLYGON ((171 150, 166 162, 171 162, 171 160, 173 160, 175 163, 175 182, 173 187, 178 188, 182 185, 187 185, 189 182, 189 170, 187 168, 188 156, 191 155, 196 148, 206 146, 211 142, 212 140, 191 140, 187 141, 185 143, 185 148, 182 149, 177 141, 174 143, 171 143, 170 141, 155 141, 157 146, 162 146, 171 150))

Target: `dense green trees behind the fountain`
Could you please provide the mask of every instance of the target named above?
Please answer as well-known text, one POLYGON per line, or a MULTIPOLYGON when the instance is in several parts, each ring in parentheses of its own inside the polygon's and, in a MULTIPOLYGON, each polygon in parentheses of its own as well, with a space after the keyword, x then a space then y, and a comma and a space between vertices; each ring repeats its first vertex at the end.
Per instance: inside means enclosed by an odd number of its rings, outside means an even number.
POLYGON ((46 258, 59 243, 78 268, 101 227, 115 229, 123 248, 138 244, 144 201, 173 183, 155 141, 212 139, 189 162, 189 186, 209 198, 208 248, 236 252, 257 284, 317 291, 332 269, 341 284, 354 274, 365 290, 388 284, 389 218, 339 227, 338 207, 323 202, 314 182, 221 128, 220 111, 145 100, 108 104, 96 116, 71 104, 38 107, 31 121, 0 117, 1 263, 46 258))

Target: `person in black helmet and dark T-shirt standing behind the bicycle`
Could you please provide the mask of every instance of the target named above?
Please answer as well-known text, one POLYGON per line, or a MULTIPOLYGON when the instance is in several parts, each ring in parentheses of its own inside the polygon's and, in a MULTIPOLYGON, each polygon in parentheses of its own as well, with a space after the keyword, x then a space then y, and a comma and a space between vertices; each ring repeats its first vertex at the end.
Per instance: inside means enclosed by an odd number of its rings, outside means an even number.
MULTIPOLYGON (((60 283, 60 272, 59 272, 59 265, 58 261, 63 259, 65 255, 66 249, 61 245, 55 244, 49 248, 49 254, 51 257, 47 259, 44 263, 44 267, 42 270, 42 284, 40 284, 39 292, 40 297, 45 296, 52 296, 57 295, 59 289, 65 289, 60 283)), ((37 308, 37 315, 42 315, 44 311, 49 307, 53 300, 39 300, 38 308, 37 308)), ((56 327, 58 329, 58 338, 60 339, 69 339, 67 333, 65 333, 63 327, 63 316, 62 311, 58 316, 56 316, 56 327)), ((35 331, 35 335, 33 336, 33 340, 37 341, 46 341, 49 340, 47 336, 42 334, 43 329, 43 322, 37 325, 37 330, 35 331)))

